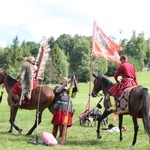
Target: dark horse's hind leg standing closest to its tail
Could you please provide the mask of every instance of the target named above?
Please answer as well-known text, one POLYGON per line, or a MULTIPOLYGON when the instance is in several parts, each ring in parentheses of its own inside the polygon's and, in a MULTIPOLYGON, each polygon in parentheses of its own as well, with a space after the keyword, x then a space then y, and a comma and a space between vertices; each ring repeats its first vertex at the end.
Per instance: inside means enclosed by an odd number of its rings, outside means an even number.
POLYGON ((132 146, 134 146, 135 143, 136 143, 136 139, 137 139, 137 133, 138 133, 139 125, 138 125, 138 121, 137 121, 136 116, 133 116, 132 120, 133 120, 133 123, 134 123, 134 138, 133 138, 133 141, 132 141, 132 146))

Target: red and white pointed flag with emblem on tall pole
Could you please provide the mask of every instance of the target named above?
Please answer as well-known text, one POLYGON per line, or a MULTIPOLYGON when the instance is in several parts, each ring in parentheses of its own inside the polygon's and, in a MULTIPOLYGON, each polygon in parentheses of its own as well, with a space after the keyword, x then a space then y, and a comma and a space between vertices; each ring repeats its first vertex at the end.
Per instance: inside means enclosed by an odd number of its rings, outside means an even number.
POLYGON ((107 37, 97 23, 93 24, 92 55, 120 64, 119 51, 122 47, 107 37))

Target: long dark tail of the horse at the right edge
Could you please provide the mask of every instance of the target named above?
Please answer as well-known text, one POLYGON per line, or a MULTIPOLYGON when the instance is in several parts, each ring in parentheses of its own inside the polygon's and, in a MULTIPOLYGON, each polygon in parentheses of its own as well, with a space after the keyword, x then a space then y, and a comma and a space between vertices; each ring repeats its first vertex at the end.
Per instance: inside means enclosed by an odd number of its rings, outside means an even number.
POLYGON ((142 116, 144 129, 150 138, 150 94, 147 88, 142 89, 142 116))

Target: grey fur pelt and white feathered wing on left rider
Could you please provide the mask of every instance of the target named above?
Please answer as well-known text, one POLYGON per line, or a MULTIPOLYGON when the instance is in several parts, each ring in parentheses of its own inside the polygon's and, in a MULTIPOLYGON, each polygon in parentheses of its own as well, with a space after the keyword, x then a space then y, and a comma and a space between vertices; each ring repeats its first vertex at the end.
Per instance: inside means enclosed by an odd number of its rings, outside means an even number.
MULTIPOLYGON (((30 62, 25 62, 21 69, 21 76, 20 76, 20 82, 21 82, 21 97, 20 97, 20 104, 22 100, 28 98, 31 99, 31 92, 33 89, 33 78, 35 80, 44 78, 44 67, 46 64, 46 61, 49 56, 49 44, 45 37, 42 38, 40 42, 40 48, 37 55, 37 59, 35 61, 35 64, 32 64, 30 62)), ((26 60, 26 58, 24 58, 26 60)))

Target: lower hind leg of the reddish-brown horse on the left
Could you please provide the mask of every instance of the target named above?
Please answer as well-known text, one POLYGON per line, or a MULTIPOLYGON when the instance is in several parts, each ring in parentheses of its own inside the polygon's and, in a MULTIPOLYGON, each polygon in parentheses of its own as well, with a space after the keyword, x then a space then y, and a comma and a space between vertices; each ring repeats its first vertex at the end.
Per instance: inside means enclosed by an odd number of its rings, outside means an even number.
POLYGON ((31 135, 32 132, 35 130, 35 128, 37 128, 37 126, 41 123, 41 118, 42 118, 42 112, 43 110, 40 112, 36 111, 36 119, 35 119, 35 123, 32 126, 32 128, 28 131, 28 133, 26 135, 31 135))

